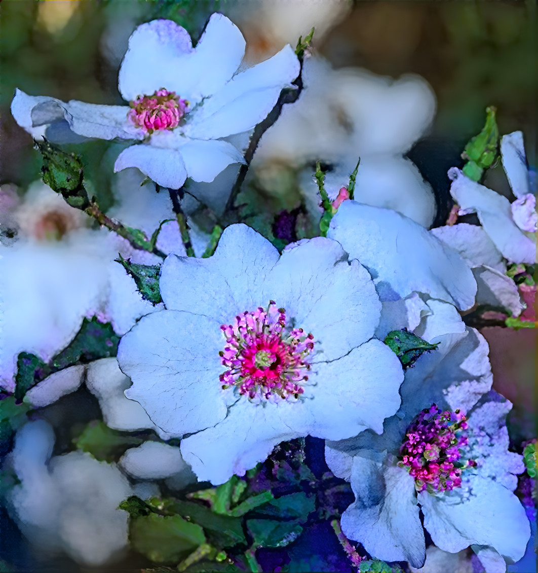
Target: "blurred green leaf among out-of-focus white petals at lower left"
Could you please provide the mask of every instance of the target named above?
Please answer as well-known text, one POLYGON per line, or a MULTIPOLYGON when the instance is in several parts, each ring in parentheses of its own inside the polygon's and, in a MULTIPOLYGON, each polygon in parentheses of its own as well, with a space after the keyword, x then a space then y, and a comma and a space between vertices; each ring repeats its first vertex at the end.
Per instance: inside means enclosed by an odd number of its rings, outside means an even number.
POLYGON ((108 462, 116 460, 127 448, 139 446, 143 441, 143 438, 111 430, 101 420, 90 422, 82 434, 73 439, 78 449, 92 454, 96 460, 108 462))

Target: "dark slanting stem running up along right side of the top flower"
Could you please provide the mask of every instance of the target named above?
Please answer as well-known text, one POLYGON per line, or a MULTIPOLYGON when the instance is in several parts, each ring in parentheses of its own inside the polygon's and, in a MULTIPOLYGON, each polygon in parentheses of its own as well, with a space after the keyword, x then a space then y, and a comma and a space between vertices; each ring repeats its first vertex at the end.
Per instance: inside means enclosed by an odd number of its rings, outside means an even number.
POLYGON ((230 197, 228 197, 228 201, 226 202, 226 207, 224 208, 223 220, 227 224, 230 224, 228 219, 234 219, 234 214, 236 214, 239 209, 239 207, 235 205, 235 199, 237 198, 239 191, 241 190, 241 186, 243 185, 243 182, 245 180, 245 177, 247 176, 248 168, 250 167, 250 163, 252 161, 252 158, 254 157, 254 152, 256 151, 256 148, 258 148, 258 144, 260 142, 260 139, 262 138, 262 135, 279 118, 280 113, 282 112, 283 105, 295 103, 295 101, 299 99, 300 92, 302 92, 303 90, 302 74, 303 74, 304 54, 303 53, 300 54, 298 56, 298 59, 300 64, 299 75, 297 76, 297 79, 294 82, 292 82, 292 84, 295 85, 296 89, 294 89, 293 91, 284 89, 282 92, 280 92, 280 96, 275 104, 275 107, 272 108, 271 112, 266 117, 266 119, 261 121, 254 128, 254 134, 252 134, 250 143, 248 144, 247 151, 245 152, 244 155, 246 163, 242 164, 242 166, 239 168, 238 176, 235 180, 234 186, 232 187, 230 197))

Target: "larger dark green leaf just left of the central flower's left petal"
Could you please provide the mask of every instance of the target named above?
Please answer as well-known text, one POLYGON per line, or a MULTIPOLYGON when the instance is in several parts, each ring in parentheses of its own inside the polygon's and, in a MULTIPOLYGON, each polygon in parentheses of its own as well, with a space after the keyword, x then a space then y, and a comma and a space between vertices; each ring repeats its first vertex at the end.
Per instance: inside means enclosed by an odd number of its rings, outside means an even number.
POLYGON ((100 323, 97 317, 84 319, 73 342, 53 360, 54 367, 61 369, 82 360, 90 362, 99 358, 116 356, 120 337, 110 323, 100 323))

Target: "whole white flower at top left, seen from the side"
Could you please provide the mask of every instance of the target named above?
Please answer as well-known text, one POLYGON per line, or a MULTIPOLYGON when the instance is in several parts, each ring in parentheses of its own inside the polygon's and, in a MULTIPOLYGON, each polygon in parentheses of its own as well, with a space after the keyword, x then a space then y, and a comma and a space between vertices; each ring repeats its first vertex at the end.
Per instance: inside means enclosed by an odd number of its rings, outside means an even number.
POLYGON ((153 20, 134 30, 120 67, 118 88, 131 108, 65 103, 17 90, 11 112, 34 136, 46 129, 53 138, 54 127, 66 121, 88 138, 139 140, 121 152, 116 171, 138 167, 171 189, 179 189, 187 177, 209 182, 229 164, 244 162, 242 153, 222 138, 262 121, 281 89, 299 74, 289 45, 236 73, 244 49, 239 29, 222 14, 209 18, 196 48, 175 22, 153 20))

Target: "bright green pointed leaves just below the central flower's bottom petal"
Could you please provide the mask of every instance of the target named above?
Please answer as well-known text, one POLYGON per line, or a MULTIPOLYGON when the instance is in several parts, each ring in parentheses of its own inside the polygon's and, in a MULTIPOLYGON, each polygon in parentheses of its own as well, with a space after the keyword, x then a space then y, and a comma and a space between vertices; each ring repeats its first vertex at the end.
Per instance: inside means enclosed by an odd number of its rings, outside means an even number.
POLYGON ((226 484, 217 488, 203 489, 191 493, 193 499, 202 499, 209 502, 211 509, 220 515, 240 517, 252 509, 273 499, 271 492, 261 492, 252 496, 244 496, 247 482, 238 476, 232 476, 226 484), (246 497, 246 499, 244 499, 246 497), (240 501, 243 498, 243 501, 240 501))

